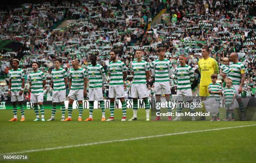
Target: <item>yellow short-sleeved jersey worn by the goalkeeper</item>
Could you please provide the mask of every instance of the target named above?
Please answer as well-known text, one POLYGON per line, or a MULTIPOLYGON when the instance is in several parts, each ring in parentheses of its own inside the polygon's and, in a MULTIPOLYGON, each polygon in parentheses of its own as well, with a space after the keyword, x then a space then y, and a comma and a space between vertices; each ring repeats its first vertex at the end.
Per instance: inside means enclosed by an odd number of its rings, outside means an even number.
POLYGON ((201 74, 200 86, 208 86, 212 80, 211 75, 219 73, 218 63, 215 59, 209 57, 198 61, 199 72, 201 74))

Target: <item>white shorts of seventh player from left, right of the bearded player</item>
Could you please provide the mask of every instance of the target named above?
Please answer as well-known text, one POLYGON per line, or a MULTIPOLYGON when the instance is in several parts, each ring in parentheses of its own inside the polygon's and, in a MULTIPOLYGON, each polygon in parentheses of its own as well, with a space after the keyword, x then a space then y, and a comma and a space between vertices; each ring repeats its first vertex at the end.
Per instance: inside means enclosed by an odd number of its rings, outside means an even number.
POLYGON ((141 99, 148 97, 148 89, 147 89, 146 84, 132 84, 131 98, 138 98, 138 96, 141 99))

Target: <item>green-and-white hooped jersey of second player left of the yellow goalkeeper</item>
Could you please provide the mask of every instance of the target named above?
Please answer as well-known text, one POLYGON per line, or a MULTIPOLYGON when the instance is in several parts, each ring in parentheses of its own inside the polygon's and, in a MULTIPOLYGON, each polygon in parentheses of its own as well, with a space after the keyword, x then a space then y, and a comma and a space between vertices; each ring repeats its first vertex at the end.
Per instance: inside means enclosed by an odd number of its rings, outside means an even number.
POLYGON ((156 59, 151 65, 152 71, 155 71, 155 82, 170 81, 172 74, 172 63, 167 60, 156 59))

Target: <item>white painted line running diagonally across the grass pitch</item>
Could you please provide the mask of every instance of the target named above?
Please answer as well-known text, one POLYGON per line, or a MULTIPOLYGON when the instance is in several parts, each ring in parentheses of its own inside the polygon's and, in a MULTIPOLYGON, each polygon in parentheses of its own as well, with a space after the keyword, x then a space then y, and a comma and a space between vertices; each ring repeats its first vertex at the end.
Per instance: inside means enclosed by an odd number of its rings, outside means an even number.
POLYGON ((181 135, 181 134, 186 134, 186 133, 199 133, 199 132, 206 132, 206 131, 225 130, 225 129, 230 129, 230 128, 241 128, 241 127, 249 127, 249 126, 256 126, 256 124, 224 127, 224 128, 213 128, 213 129, 198 130, 198 131, 186 131, 186 132, 180 132, 180 133, 168 133, 168 134, 162 134, 162 135, 143 136, 143 137, 137 137, 137 138, 126 138, 126 139, 112 140, 112 141, 98 141, 98 142, 94 142, 94 143, 84 143, 84 144, 77 144, 77 145, 71 145, 71 146, 59 146, 59 147, 52 147, 52 148, 32 149, 32 150, 26 150, 26 151, 20 151, 20 152, 0 153, 0 156, 14 155, 14 154, 20 154, 20 153, 50 151, 50 150, 56 150, 56 149, 65 149, 65 148, 73 148, 73 147, 81 147, 81 146, 91 146, 91 145, 114 143, 114 142, 121 142, 121 141, 133 141, 133 140, 146 139, 146 138, 157 138, 157 137, 163 137, 163 136, 181 135))

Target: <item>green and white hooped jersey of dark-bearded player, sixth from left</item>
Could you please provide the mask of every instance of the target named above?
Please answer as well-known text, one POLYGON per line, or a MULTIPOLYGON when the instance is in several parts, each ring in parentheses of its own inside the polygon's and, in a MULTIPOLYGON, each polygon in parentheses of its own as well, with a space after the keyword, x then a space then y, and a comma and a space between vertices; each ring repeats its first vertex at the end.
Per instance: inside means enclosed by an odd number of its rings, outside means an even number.
POLYGON ((108 64, 108 73, 110 73, 109 86, 121 86, 123 85, 123 72, 127 69, 125 64, 118 60, 117 62, 110 62, 108 64))

